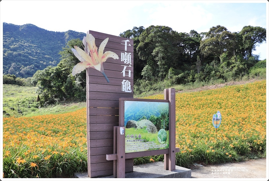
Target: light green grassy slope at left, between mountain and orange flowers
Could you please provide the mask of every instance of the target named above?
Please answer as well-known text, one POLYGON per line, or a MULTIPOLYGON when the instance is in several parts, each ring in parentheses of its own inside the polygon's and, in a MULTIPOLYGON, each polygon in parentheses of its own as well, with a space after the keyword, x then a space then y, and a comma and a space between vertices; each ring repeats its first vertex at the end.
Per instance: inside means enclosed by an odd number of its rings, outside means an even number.
POLYGON ((40 107, 39 102, 36 101, 36 90, 37 87, 3 84, 3 117, 66 113, 86 107, 86 102, 60 102, 56 105, 40 107))

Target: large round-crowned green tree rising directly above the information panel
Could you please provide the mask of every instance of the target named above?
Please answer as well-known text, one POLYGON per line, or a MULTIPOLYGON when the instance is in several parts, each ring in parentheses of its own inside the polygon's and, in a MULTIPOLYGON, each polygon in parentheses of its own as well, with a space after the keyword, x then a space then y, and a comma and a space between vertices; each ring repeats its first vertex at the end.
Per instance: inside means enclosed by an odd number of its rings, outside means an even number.
MULTIPOLYGON (((146 62, 142 72, 144 75, 152 74, 154 81, 164 80, 170 67, 178 68, 179 34, 167 26, 149 26, 139 36, 137 46, 139 58, 146 62)), ((143 76, 144 79, 146 77, 143 76)))

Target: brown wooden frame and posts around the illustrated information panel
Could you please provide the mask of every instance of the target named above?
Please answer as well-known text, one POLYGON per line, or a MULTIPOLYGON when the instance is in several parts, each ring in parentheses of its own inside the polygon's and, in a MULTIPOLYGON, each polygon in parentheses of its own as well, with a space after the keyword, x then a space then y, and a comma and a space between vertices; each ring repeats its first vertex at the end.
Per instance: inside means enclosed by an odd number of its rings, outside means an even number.
POLYGON ((113 154, 107 154, 107 160, 114 161, 114 178, 125 178, 125 164, 124 159, 146 157, 150 155, 164 154, 164 169, 174 171, 176 167, 176 109, 175 109, 175 89, 169 88, 164 90, 164 100, 149 100, 149 99, 133 99, 120 98, 119 99, 119 126, 114 127, 114 148, 113 154), (169 102, 169 149, 140 151, 125 153, 125 132, 123 135, 119 134, 120 127, 124 127, 124 101, 148 101, 148 102, 169 102))

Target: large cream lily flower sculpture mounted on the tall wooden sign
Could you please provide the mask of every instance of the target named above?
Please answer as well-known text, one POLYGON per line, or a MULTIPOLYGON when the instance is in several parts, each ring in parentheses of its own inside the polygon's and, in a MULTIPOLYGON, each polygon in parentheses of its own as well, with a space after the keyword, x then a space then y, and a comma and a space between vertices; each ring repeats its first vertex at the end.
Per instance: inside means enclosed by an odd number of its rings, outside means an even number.
POLYGON ((95 45, 95 38, 92 36, 92 34, 87 34, 87 36, 83 38, 82 42, 84 45, 84 50, 77 46, 74 46, 74 48, 71 49, 74 55, 80 61, 77 65, 74 66, 72 75, 74 76, 77 73, 82 72, 86 68, 94 68, 101 72, 107 82, 109 82, 104 72, 103 62, 105 62, 108 58, 119 59, 119 56, 111 51, 106 51, 104 53, 105 45, 107 45, 108 38, 106 38, 100 44, 98 52, 95 45), (87 50, 90 52, 90 55, 88 54, 87 50))

